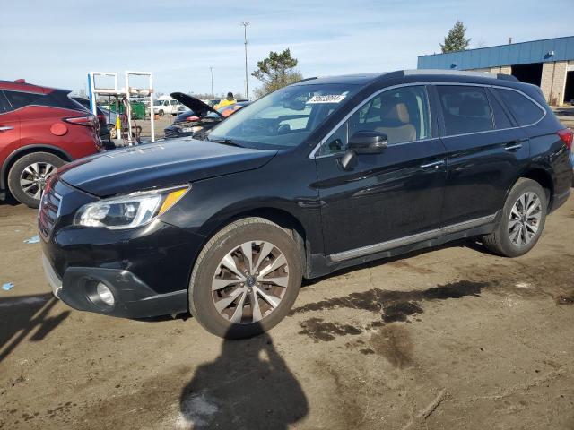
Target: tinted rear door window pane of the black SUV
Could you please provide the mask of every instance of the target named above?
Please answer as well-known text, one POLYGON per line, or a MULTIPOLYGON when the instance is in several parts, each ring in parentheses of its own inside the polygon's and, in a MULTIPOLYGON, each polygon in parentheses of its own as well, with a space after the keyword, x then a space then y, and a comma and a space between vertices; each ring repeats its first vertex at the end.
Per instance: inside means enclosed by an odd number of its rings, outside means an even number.
POLYGON ((447 135, 493 129, 491 107, 483 87, 437 85, 447 135))

